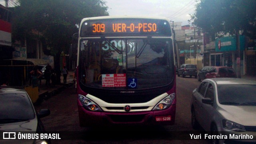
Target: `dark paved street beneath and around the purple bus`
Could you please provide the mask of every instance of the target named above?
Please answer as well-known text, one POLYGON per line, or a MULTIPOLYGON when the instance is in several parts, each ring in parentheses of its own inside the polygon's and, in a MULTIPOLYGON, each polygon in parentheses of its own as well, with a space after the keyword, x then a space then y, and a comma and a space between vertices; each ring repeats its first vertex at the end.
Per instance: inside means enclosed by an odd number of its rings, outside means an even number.
MULTIPOLYGON (((84 140, 58 140, 53 144, 207 144, 207 140, 182 140, 182 132, 194 131, 190 125, 190 98, 192 90, 200 82, 195 78, 177 77, 177 110, 174 126, 130 126, 81 128, 78 120, 76 91, 74 85, 36 106, 37 110, 49 108, 50 116, 42 118, 47 131, 62 131, 70 134, 84 134, 84 140), (180 131, 180 132, 179 132, 180 131)), ((184 133, 183 133, 184 134, 184 133)), ((189 135, 189 133, 187 134, 189 135)))

